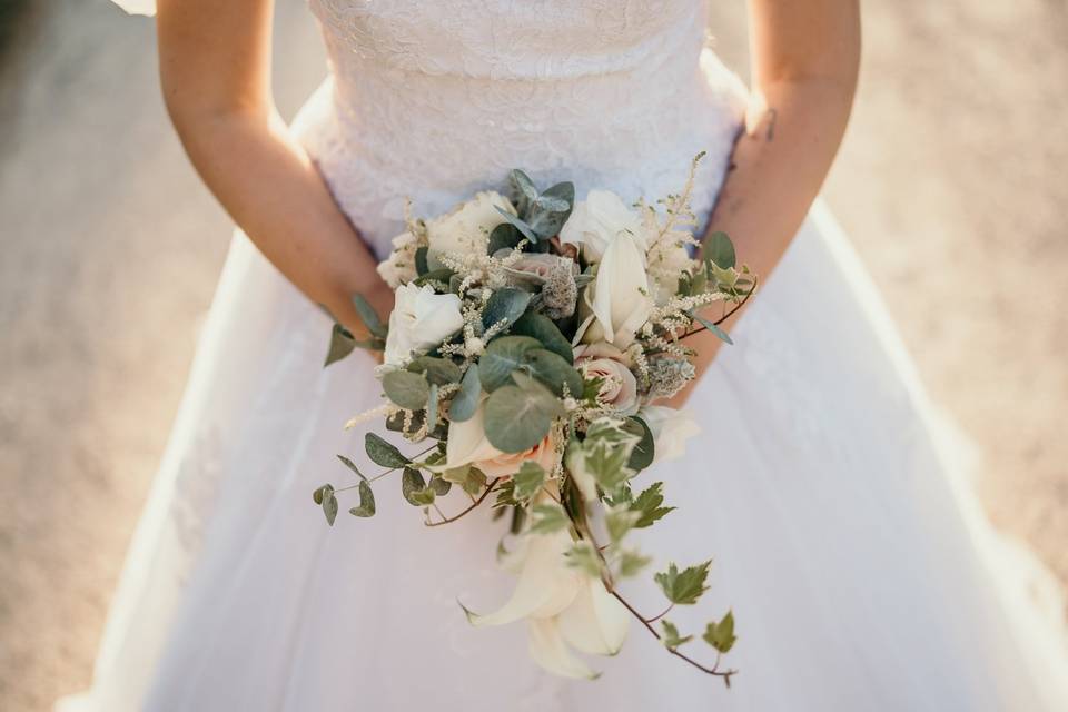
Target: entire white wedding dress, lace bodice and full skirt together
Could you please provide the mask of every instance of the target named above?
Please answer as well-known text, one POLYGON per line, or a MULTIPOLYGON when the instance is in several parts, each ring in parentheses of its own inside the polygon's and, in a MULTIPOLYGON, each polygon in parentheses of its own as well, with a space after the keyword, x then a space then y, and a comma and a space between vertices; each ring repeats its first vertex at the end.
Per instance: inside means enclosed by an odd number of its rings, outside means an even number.
MULTIPOLYGON (((376 254, 520 167, 580 197, 678 190, 708 150, 706 215, 744 88, 703 47, 701 0, 310 0, 330 78, 295 130, 376 254)), ((773 209, 774 206, 769 206, 773 209)), ((760 236, 734 236, 745 244, 760 236)), ((513 585, 488 511, 426 530, 399 482, 330 528, 312 502, 363 463, 345 421, 378 402, 364 354, 322 368, 330 323, 241 234, 137 531, 91 690, 70 711, 1068 709, 1059 631, 960 482, 960 445, 821 205, 701 380, 702 426, 641 542, 714 556, 730 690, 634 626, 596 682, 551 676, 525 631, 475 630, 513 585)), ((661 562, 662 563, 662 562, 661 562)), ((649 612, 649 577, 631 584, 649 612)), ((703 643, 692 643, 696 654, 703 643)), ((711 652, 711 649, 705 649, 711 652)))

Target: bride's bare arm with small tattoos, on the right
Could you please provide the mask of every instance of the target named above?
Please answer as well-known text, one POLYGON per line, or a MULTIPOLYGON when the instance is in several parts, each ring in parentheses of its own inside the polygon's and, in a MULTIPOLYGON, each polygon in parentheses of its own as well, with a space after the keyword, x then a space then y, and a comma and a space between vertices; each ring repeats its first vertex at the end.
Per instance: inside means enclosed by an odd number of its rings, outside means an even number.
MULTIPOLYGON (((860 63, 857 0, 750 0, 752 96, 745 131, 709 231, 731 236, 739 258, 767 278, 815 199, 841 144, 860 63)), ((760 299, 760 293, 753 297, 760 299)), ((745 309, 723 325, 728 330, 745 309)), ((718 318, 710 308, 705 316, 718 318)), ((721 342, 686 338, 699 373, 721 342)), ((672 399, 681 405, 695 382, 672 399)))

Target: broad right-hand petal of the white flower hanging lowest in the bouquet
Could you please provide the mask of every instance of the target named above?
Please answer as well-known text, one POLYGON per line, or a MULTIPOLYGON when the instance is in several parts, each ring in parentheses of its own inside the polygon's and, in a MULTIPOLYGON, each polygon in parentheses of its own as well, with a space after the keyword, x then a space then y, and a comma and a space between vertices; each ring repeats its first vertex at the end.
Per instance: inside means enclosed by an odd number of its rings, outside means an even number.
POLYGON ((631 614, 599 578, 584 578, 574 602, 556 616, 560 633, 591 655, 615 655, 623 647, 631 614))

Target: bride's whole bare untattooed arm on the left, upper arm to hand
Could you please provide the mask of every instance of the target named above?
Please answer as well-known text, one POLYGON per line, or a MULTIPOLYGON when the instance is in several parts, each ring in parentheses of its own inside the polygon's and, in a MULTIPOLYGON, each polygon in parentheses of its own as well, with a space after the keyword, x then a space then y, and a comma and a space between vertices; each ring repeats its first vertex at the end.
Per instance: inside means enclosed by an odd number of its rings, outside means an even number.
POLYGON ((384 315, 393 294, 275 108, 273 10, 273 0, 159 0, 164 98, 194 166, 237 225, 363 339, 349 296, 364 294, 384 315))

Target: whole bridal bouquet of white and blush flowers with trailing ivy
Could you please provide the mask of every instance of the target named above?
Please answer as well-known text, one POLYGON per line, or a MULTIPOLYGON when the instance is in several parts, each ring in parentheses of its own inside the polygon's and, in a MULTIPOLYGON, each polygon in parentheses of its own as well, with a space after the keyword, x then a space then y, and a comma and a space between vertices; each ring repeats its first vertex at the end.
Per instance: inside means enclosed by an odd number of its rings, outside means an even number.
POLYGON ((650 563, 629 533, 674 508, 663 483, 639 486, 637 475, 680 456, 696 429, 655 402, 695 377, 686 337, 709 329, 729 343, 718 323, 756 287, 721 233, 706 240, 703 261, 692 256, 689 199, 700 158, 683 190, 657 205, 627 206, 606 190, 576 204, 573 184, 538 190, 513 170, 508 197, 479 192, 425 221, 408 215, 378 268, 396 290, 388 326, 357 295, 370 340, 334 327, 327 364, 357 346, 384 352, 384 403, 348 427, 383 417, 427 446, 404 454, 367 433, 367 456, 385 471, 366 476, 339 456, 357 482, 316 490, 327 521, 344 490, 356 490, 353 515, 374 515, 373 485, 389 473, 399 473, 400 494, 428 526, 487 501, 510 514, 497 557, 517 575, 515 591, 492 613, 464 611, 476 626, 525 619, 532 656, 561 675, 595 678, 575 651, 619 652, 631 619, 703 672, 728 684, 734 673, 720 669, 735 640, 730 612, 701 631, 709 664, 681 652, 694 635, 665 617, 708 590, 710 562, 656 573, 666 599, 656 615, 619 589, 650 563), (713 303, 722 303, 721 318, 699 315, 713 303), (446 514, 453 490, 464 507, 446 514))

